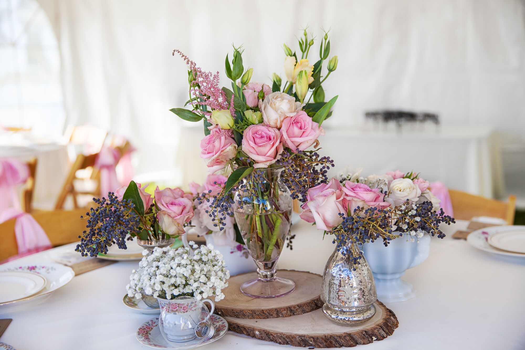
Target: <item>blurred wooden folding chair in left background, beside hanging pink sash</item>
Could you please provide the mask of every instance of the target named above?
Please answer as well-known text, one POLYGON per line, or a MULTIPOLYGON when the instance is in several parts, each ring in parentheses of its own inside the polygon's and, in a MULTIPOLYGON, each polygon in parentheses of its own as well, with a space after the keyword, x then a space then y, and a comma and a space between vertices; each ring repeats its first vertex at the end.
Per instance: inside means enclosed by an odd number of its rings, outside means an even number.
POLYGON ((92 168, 95 166, 95 161, 97 159, 98 153, 94 155, 84 156, 84 155, 78 155, 75 162, 72 164, 71 168, 69 169, 68 176, 66 177, 66 180, 64 182, 64 186, 62 186, 62 190, 60 191, 60 194, 58 195, 58 199, 55 205, 55 209, 62 209, 64 208, 64 202, 66 201, 66 198, 68 195, 72 196, 73 199, 73 205, 75 209, 79 208, 78 202, 77 202, 77 195, 78 194, 92 194, 95 195, 95 197, 98 197, 100 192, 100 176, 97 175, 97 171, 92 172, 92 180, 95 181, 96 186, 92 186, 92 190, 76 190, 75 189, 75 181, 79 180, 77 178, 77 171, 87 168, 92 168), (93 176, 93 173, 95 175, 93 176))

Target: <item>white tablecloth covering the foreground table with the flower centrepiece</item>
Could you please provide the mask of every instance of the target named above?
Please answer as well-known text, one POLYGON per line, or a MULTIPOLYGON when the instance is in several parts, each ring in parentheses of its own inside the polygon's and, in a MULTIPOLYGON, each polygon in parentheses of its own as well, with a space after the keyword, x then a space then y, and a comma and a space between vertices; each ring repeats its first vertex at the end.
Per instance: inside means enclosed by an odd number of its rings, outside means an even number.
MULTIPOLYGON (((430 255, 403 277, 416 289, 404 303, 386 304, 399 327, 366 349, 523 349, 525 348, 525 264, 493 258, 466 241, 433 239, 430 255)), ((309 224, 292 228, 293 250, 282 253, 281 268, 321 273, 333 250, 329 238, 309 224)), ((46 252, 17 260, 43 264, 46 252)), ((74 277, 43 303, 0 314, 13 318, 0 341, 18 350, 145 349, 135 331, 153 317, 122 303, 124 286, 137 262, 119 262, 74 277)), ((206 348, 206 347, 203 347, 206 348)), ((285 348, 228 332, 209 349, 285 348)), ((287 348, 290 348, 288 346, 287 348)))

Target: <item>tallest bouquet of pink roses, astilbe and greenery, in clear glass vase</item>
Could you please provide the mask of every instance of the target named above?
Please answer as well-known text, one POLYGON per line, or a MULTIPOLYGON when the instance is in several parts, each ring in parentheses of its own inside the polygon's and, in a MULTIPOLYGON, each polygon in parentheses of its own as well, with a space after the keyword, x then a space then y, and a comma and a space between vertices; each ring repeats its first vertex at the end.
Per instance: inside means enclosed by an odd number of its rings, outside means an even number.
MULTIPOLYGON (((197 205, 209 203, 205 214, 219 231, 230 230, 230 238, 233 237, 231 218, 235 191, 248 189, 271 203, 279 201, 278 195, 259 186, 275 181, 266 175, 267 168, 284 168, 282 178, 292 198, 302 199, 308 188, 328 182, 326 170, 333 167, 332 161, 308 149, 319 145, 318 138, 324 135, 321 124, 330 117, 330 109, 338 98, 325 102, 322 87, 337 69, 338 58, 329 59, 330 40, 325 32, 320 39, 319 59, 312 65, 308 55, 315 40, 306 29, 302 34, 298 39, 300 51, 292 52, 283 45, 285 84, 275 73, 270 84, 252 82, 254 69, 245 69, 241 47, 234 47, 232 60, 226 55, 225 73, 232 81, 231 90, 220 87, 219 72, 205 71, 180 50, 173 51, 188 67, 190 88, 185 106, 192 108, 171 111, 184 120, 204 123, 201 158, 212 174, 228 176, 220 189, 200 193, 197 205)), ((276 228, 277 219, 271 219, 267 232, 276 228)), ((268 239, 271 240, 271 236, 268 239)))

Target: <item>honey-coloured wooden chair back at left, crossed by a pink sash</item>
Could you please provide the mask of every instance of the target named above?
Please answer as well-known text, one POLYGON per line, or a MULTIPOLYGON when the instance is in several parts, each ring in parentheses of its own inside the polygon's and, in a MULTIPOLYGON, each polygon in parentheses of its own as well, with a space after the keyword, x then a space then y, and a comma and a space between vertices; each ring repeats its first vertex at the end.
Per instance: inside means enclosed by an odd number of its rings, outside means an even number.
MULTIPOLYGON (((77 242, 78 236, 86 230, 86 220, 80 219, 85 215, 85 209, 77 210, 55 210, 40 211, 33 213, 33 218, 40 224, 53 246, 77 242)), ((18 246, 15 237, 15 219, 0 224, 2 234, 2 249, 0 249, 0 261, 18 254, 18 246)))

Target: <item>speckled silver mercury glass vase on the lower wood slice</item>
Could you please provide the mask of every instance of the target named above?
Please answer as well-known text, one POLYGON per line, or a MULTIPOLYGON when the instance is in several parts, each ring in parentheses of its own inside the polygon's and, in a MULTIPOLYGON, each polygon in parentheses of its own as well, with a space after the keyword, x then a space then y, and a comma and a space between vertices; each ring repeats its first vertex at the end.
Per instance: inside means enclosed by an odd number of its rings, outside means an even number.
POLYGON ((333 322, 355 325, 375 314, 377 300, 374 276, 364 256, 353 265, 352 254, 359 254, 355 244, 334 252, 324 267, 321 285, 323 313, 333 322), (345 254, 342 252, 346 251, 345 254), (354 271, 355 268, 355 271, 354 271))

